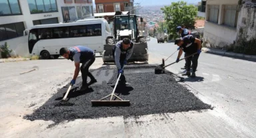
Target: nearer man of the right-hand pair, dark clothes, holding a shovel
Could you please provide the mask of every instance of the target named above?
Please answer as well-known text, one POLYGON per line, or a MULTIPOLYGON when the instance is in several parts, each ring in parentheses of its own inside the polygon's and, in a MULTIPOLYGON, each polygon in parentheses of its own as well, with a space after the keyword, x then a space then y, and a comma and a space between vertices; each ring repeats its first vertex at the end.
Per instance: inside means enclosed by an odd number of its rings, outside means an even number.
POLYGON ((176 38, 175 44, 177 44, 177 46, 179 46, 180 48, 176 62, 179 62, 179 58, 181 57, 183 51, 186 53, 186 56, 190 56, 191 54, 194 54, 197 52, 197 54, 187 58, 187 66, 186 66, 186 70, 187 70, 186 75, 194 78, 195 71, 197 70, 199 54, 201 53, 202 41, 198 38, 193 37, 192 35, 187 35, 187 36, 184 36, 183 38, 176 38), (193 64, 192 75, 190 72, 191 61, 193 64))

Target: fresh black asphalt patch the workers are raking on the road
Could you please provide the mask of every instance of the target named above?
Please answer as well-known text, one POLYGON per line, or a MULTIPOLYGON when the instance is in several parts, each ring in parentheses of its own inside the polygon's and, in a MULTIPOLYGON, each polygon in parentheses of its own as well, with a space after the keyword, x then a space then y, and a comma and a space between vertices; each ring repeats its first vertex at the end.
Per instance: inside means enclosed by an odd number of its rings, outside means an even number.
POLYGON ((79 91, 79 78, 69 92, 67 104, 62 104, 61 99, 68 85, 59 89, 45 104, 24 118, 31 121, 40 119, 60 123, 74 119, 129 117, 211 109, 211 105, 201 102, 185 86, 179 84, 171 72, 165 70, 165 74, 155 74, 155 67, 125 66, 125 77, 129 85, 118 86, 115 93, 123 100, 130 100, 129 107, 92 107, 91 100, 100 100, 111 94, 117 80, 115 68, 102 67, 92 71, 98 82, 90 86, 89 92, 79 91))

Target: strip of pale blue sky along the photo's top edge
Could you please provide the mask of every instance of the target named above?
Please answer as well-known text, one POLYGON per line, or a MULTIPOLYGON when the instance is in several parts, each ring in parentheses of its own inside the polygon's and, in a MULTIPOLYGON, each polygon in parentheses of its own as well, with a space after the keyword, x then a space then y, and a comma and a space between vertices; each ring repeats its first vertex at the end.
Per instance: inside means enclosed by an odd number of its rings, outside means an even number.
MULTIPOLYGON (((93 7, 95 7, 95 0, 93 0, 93 7)), ((156 0, 134 0, 134 3, 141 3, 141 6, 153 6, 153 5, 171 5, 172 2, 177 2, 180 0, 157 0, 157 3, 155 2, 156 0)), ((197 3, 201 0, 183 0, 186 1, 187 3, 197 3)))

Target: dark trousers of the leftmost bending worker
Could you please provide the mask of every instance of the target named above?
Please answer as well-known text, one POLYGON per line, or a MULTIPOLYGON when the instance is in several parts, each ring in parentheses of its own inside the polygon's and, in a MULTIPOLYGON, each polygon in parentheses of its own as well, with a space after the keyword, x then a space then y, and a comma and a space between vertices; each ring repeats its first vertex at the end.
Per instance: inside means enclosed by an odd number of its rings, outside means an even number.
POLYGON ((89 60, 85 60, 85 62, 82 63, 82 66, 80 67, 81 74, 82 74, 82 80, 83 80, 83 86, 87 86, 87 76, 91 78, 91 80, 95 80, 93 74, 89 72, 89 67, 93 64, 95 61, 95 56, 89 60))

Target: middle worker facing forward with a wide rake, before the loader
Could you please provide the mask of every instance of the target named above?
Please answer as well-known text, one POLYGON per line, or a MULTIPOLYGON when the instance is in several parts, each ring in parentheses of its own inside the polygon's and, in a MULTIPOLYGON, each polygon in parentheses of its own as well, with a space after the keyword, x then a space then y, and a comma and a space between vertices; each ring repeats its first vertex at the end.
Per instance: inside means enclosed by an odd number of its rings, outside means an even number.
POLYGON ((127 60, 129 60, 133 54, 133 42, 129 38, 123 38, 123 40, 117 42, 117 44, 113 47, 112 53, 118 70, 117 78, 121 73, 119 83, 126 84, 125 75, 122 68, 125 64, 127 64, 127 60))

